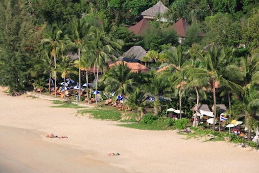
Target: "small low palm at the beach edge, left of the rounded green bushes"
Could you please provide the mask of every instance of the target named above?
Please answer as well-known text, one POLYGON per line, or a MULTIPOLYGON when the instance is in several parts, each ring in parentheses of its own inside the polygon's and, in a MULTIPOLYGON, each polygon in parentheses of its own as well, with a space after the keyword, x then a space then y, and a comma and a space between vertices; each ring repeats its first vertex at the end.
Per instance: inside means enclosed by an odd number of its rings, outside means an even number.
POLYGON ((139 88, 137 87, 129 95, 125 104, 127 106, 129 106, 132 111, 136 110, 137 114, 140 111, 140 119, 142 119, 143 118, 143 108, 146 105, 145 101, 147 100, 147 98, 148 98, 148 96, 145 93, 140 92, 139 88))

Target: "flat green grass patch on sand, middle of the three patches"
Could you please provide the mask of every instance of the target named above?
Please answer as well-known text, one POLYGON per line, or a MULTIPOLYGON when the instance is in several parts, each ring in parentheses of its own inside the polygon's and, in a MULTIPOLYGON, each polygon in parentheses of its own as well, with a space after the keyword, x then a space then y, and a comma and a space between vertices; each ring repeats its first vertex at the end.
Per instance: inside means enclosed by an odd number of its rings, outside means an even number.
POLYGON ((92 109, 92 110, 80 110, 78 114, 91 114, 92 118, 102 120, 118 121, 122 118, 122 114, 117 110, 104 110, 104 109, 92 109))

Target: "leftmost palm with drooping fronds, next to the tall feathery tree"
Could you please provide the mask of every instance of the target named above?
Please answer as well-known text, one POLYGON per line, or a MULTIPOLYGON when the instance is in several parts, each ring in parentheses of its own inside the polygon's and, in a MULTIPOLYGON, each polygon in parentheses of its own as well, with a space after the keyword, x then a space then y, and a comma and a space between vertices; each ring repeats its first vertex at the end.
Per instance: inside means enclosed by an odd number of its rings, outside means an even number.
POLYGON ((53 59, 49 56, 49 52, 46 50, 41 51, 40 53, 41 58, 36 61, 34 67, 30 70, 32 76, 37 76, 42 74, 49 74, 49 93, 51 93, 51 78, 52 73, 54 72, 53 69, 53 59))

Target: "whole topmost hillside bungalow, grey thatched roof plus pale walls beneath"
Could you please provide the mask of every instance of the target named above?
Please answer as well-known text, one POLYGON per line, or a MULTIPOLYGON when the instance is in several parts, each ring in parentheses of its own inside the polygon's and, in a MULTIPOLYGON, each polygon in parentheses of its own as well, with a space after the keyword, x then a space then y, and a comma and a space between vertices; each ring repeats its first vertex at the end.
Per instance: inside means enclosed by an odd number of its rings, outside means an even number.
MULTIPOLYGON (((162 15, 167 10, 168 8, 164 6, 161 1, 158 1, 156 5, 140 13, 140 17, 147 18, 147 19, 154 19, 156 15, 158 14, 162 15)), ((166 18, 161 17, 160 21, 168 21, 168 20, 166 18)))

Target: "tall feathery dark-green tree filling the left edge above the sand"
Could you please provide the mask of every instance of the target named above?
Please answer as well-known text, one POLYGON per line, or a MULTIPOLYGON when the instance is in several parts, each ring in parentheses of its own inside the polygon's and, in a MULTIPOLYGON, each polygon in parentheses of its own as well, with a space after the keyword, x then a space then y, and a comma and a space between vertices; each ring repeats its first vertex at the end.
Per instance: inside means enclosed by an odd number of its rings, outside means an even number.
POLYGON ((28 81, 33 17, 24 0, 0 1, 0 85, 22 91, 28 81))

